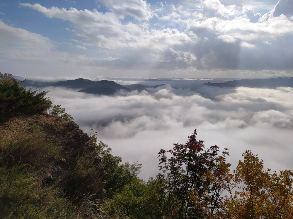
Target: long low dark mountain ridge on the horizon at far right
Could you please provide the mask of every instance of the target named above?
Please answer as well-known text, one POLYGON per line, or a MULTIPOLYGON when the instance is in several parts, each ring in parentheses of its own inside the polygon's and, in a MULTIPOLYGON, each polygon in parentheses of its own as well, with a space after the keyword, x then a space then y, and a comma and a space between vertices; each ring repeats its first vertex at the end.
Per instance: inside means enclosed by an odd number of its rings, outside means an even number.
POLYGON ((215 87, 255 87, 255 88, 276 88, 293 87, 293 77, 291 78, 267 78, 267 79, 241 79, 227 81, 225 83, 204 83, 204 85, 215 87))

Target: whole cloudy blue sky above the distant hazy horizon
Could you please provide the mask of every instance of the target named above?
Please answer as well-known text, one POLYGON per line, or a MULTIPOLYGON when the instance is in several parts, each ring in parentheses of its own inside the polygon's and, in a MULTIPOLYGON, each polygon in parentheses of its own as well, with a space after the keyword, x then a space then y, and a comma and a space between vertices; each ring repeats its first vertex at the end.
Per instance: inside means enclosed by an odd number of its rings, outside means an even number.
POLYGON ((0 71, 19 76, 293 76, 292 0, 0 1, 0 71))

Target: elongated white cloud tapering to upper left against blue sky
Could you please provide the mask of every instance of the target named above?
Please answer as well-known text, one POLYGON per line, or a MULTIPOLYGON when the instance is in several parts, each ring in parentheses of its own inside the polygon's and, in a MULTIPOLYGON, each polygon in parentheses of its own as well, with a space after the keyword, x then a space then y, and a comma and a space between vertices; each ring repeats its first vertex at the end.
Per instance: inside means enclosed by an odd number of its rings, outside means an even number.
POLYGON ((96 9, 77 10, 76 8, 46 8, 40 4, 21 3, 21 6, 40 11, 49 18, 60 18, 71 21, 78 28, 78 36, 84 43, 95 44, 101 48, 115 48, 134 40, 135 36, 127 31, 114 13, 102 13, 96 9))

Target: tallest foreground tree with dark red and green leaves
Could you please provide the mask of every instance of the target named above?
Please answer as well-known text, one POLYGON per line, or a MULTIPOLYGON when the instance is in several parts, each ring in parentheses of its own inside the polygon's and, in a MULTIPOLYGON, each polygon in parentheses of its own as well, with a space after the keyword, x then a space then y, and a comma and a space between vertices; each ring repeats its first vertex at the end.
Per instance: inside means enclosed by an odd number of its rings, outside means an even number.
POLYGON ((230 166, 225 160, 228 149, 222 155, 216 145, 205 150, 196 135, 194 130, 186 144, 174 144, 169 159, 165 150, 158 153, 167 180, 167 218, 211 218, 221 210, 223 179, 230 166))

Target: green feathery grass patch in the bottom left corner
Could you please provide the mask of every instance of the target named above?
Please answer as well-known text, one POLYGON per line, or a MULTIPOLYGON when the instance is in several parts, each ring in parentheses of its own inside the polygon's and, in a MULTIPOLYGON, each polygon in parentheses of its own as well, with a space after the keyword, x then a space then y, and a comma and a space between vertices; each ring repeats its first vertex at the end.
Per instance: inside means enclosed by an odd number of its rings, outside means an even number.
MULTIPOLYGON (((0 218, 68 218, 69 202, 57 186, 43 187, 27 165, 0 167, 0 218)), ((73 216, 73 215, 72 215, 73 216)), ((72 217, 74 218, 74 217, 72 217)))

